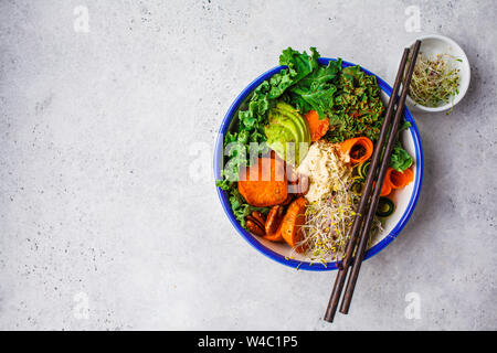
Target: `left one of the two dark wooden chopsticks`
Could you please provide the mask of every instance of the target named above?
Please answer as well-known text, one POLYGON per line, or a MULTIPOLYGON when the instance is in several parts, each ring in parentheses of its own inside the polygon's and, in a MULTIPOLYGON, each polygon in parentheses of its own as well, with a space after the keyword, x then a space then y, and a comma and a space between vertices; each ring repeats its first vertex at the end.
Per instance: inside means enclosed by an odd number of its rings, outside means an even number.
MULTIPOLYGON (((408 62, 409 52, 410 52, 410 50, 405 49, 404 53, 402 55, 402 60, 399 65, 399 71, 396 73, 395 82, 393 84, 392 94, 390 95, 390 100, 387 106, 387 113, 385 113, 383 124, 381 126, 380 136, 378 138, 377 146, 383 145, 383 142, 387 138, 388 131, 390 129, 390 122, 391 122, 391 119, 393 116, 393 109, 394 109, 394 106, 396 103, 398 93, 399 93, 399 88, 400 88, 400 85, 402 82, 402 77, 404 75, 404 69, 405 69, 405 64, 408 62)), ((351 261, 352 255, 353 255, 353 250, 356 248, 357 236, 358 236, 359 231, 362 225, 362 215, 366 213, 369 196, 371 194, 376 169, 378 168, 379 162, 380 162, 381 150, 382 150, 381 148, 376 148, 373 151, 371 164, 370 164, 370 168, 368 171, 368 175, 366 178, 366 186, 362 192, 361 200, 359 202, 358 212, 353 220, 352 228, 350 229, 350 238, 347 244, 345 256, 341 258, 341 263, 340 263, 341 266, 339 266, 337 278, 335 280, 335 286, 331 291, 331 297, 329 299, 328 307, 326 309, 324 319, 328 322, 334 321, 335 313, 337 312, 338 302, 340 300, 341 291, 343 289, 343 284, 345 284, 346 277, 347 277, 347 271, 349 269, 350 261, 351 261)))

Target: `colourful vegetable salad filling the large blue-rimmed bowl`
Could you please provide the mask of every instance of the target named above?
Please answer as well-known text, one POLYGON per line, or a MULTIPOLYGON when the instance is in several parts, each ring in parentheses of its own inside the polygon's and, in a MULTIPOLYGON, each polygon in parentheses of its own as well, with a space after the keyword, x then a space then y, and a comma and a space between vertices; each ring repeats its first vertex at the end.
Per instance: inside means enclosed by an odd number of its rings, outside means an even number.
MULTIPOLYGON (((283 51, 286 67, 255 88, 224 136, 216 185, 244 228, 326 266, 347 244, 384 105, 374 76, 318 58, 315 47, 283 51)), ((393 213, 395 190, 413 181, 412 164, 398 142, 373 234, 393 213)))

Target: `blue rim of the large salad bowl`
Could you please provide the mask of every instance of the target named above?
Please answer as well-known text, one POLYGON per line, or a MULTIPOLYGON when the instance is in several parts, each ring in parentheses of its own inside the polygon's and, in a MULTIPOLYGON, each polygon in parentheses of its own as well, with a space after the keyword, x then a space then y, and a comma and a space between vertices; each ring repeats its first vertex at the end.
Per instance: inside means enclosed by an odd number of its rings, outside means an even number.
MULTIPOLYGON (((328 63, 330 61, 336 61, 336 58, 319 57, 320 65, 328 65, 328 63)), ((356 64, 342 61, 342 67, 348 67, 348 66, 356 66, 356 64)), ((223 153, 223 137, 226 133, 226 131, 230 127, 230 124, 234 118, 234 115, 236 114, 236 111, 239 110, 239 108, 243 104, 243 101, 248 97, 248 95, 260 84, 262 84, 264 81, 268 79, 274 74, 278 73, 279 71, 282 71, 285 67, 286 66, 276 66, 276 67, 267 71, 266 73, 262 74, 261 76, 258 76, 245 89, 242 90, 242 93, 236 97, 236 99, 231 105, 230 109, 228 110, 226 115, 224 116, 223 122, 221 124, 221 128, 219 129, 218 138, 215 141, 215 150, 214 150, 214 178, 215 178, 215 180, 221 180, 220 161, 222 160, 221 153, 223 153)), ((378 85, 388 96, 390 96, 392 94, 392 87, 390 87, 382 78, 380 78, 372 72, 363 68, 362 66, 361 66, 361 71, 368 75, 372 75, 372 76, 377 77, 378 85)), ((404 108, 404 118, 405 118, 405 120, 411 122, 411 127, 409 130, 411 132, 413 142, 414 142, 414 149, 415 149, 416 170, 415 170, 415 178, 414 178, 414 188, 413 188, 408 207, 405 208, 405 212, 403 213, 400 221, 396 223, 396 225, 393 227, 393 229, 390 232, 390 234, 388 234, 383 239, 381 239, 381 242, 376 244, 372 248, 370 248, 366 253, 364 259, 368 259, 368 258, 374 256, 376 254, 380 253, 381 250, 383 250, 401 233, 402 228, 405 226, 409 218, 411 217, 411 215, 414 211, 414 207, 417 203, 417 199, 420 196, 421 184, 423 181, 423 149, 421 146, 421 139, 420 139, 420 133, 419 133, 416 124, 406 106, 404 108)), ((287 258, 283 255, 265 247, 262 243, 260 243, 255 238, 255 236, 250 234, 246 229, 244 229, 240 225, 240 223, 236 221, 235 216, 233 215, 233 212, 231 211, 231 205, 230 205, 230 201, 228 200, 226 193, 223 190, 221 190, 221 188, 216 188, 216 189, 218 189, 218 195, 221 200, 221 204, 222 204, 224 212, 228 215, 228 218, 230 220, 231 224, 245 238, 245 240, 248 242, 248 244, 251 244, 258 252, 261 252, 262 254, 266 255, 267 257, 269 257, 271 259, 273 259, 279 264, 283 264, 283 265, 286 265, 286 266, 289 266, 293 268, 297 268, 297 269, 305 269, 305 270, 311 270, 311 271, 329 271, 329 270, 337 269, 336 261, 327 263, 326 266, 324 264, 319 264, 319 263, 311 264, 308 261, 300 261, 300 260, 287 258)))

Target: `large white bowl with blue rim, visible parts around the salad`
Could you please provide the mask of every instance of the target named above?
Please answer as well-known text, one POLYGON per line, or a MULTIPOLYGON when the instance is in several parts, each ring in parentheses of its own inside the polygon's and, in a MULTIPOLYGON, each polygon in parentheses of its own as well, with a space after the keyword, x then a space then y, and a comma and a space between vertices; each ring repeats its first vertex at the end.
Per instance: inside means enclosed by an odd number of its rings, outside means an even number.
MULTIPOLYGON (((320 57, 319 64, 327 65, 329 61, 332 58, 320 57)), ((342 62, 342 66, 355 66, 356 64, 348 63, 346 61, 342 62)), ((239 109, 246 108, 246 101, 250 99, 252 92, 262 84, 265 79, 269 79, 274 74, 281 72, 285 66, 277 66, 273 69, 264 73, 255 81, 253 81, 233 101, 229 111, 226 113, 223 122, 221 124, 221 128, 219 130, 218 139, 215 142, 215 151, 214 151, 214 175, 216 180, 221 180, 221 169, 224 165, 223 161, 223 140, 224 135, 231 130, 232 127, 235 127, 237 124, 237 111, 239 109)), ((368 75, 374 75, 370 71, 361 67, 361 69, 368 75)), ((381 88, 381 98, 385 103, 388 103, 389 96, 392 92, 392 88, 379 76, 374 75, 378 81, 378 85, 381 88)), ((409 111, 409 109, 404 109, 404 118, 405 120, 411 122, 411 127, 404 131, 402 131, 400 138, 402 140, 402 145, 409 154, 413 158, 413 171, 414 171, 414 181, 403 188, 402 190, 396 190, 392 196, 393 202, 395 204, 395 211, 391 216, 385 220, 385 224, 383 227, 383 232, 373 237, 370 242, 370 247, 366 253, 366 259, 374 256, 384 249, 402 231, 402 228, 408 223, 411 217, 412 212, 416 205, 417 197, 421 191, 421 184, 423 180, 423 149, 421 146, 420 135, 414 122, 414 119, 409 111)), ((283 265, 305 269, 305 270, 335 270, 337 269, 337 263, 330 261, 326 265, 324 264, 311 264, 305 256, 299 254, 294 254, 292 248, 283 243, 273 243, 268 242, 264 238, 261 238, 256 235, 248 233, 244 229, 240 223, 236 221, 233 212, 231 210, 230 201, 228 200, 228 195, 221 188, 218 189, 218 194, 221 201, 221 204, 224 208, 224 212, 233 224, 236 232, 245 238, 253 247, 255 247, 258 252, 272 258, 275 261, 278 261, 283 265)))

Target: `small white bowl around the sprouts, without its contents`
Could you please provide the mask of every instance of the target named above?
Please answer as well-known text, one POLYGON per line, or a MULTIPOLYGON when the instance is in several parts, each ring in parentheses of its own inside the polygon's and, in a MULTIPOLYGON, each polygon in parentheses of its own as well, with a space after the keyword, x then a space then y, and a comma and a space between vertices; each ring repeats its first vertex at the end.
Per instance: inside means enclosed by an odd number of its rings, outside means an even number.
MULTIPOLYGON (((416 40, 421 40, 421 49, 420 53, 427 54, 430 56, 435 56, 436 54, 450 54, 457 58, 461 58, 462 62, 455 61, 454 67, 459 69, 459 93, 455 95, 454 101, 448 101, 447 104, 443 104, 438 107, 425 107, 420 105, 419 103, 415 103, 411 97, 408 95, 408 106, 412 110, 416 111, 444 111, 451 109, 453 106, 455 106, 457 103, 463 99, 464 95, 467 92, 467 88, 469 87, 469 81, 470 81, 470 68, 469 68, 469 62, 467 60, 466 54, 461 49, 461 46, 451 40, 450 38, 440 35, 440 34, 429 34, 417 38, 416 40)), ((411 50, 414 47, 415 41, 413 41, 409 46, 411 50)))

